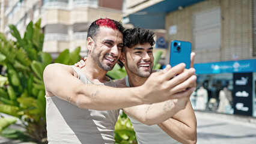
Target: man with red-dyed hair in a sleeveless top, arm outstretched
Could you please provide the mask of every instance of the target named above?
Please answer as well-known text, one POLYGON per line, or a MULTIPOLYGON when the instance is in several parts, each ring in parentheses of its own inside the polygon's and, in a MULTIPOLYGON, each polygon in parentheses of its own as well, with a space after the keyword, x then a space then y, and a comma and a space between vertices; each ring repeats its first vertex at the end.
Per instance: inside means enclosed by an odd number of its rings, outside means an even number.
MULTIPOLYGON (((119 29, 118 25, 119 22, 111 19, 93 22, 87 38, 89 55, 84 68, 63 64, 50 64, 45 68, 49 144, 114 143, 118 109, 174 98, 187 103, 194 91, 194 73, 184 70, 184 64, 154 73, 136 88, 112 88, 124 87, 106 77, 123 48, 123 28, 119 29)), ((184 109, 184 104, 179 106, 168 107, 165 113, 172 116, 184 109)), ((145 110, 138 113, 142 115, 145 110)), ((149 112, 148 119, 154 124, 159 121, 158 116, 165 113, 160 110, 159 113, 149 112)), ((160 121, 165 120, 160 116, 160 121)))

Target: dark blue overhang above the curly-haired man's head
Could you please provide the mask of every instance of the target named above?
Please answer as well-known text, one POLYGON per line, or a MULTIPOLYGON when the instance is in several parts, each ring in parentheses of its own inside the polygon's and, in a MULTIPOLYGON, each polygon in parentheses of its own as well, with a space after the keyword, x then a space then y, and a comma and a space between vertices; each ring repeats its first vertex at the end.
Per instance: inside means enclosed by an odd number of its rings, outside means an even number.
POLYGON ((178 7, 187 7, 204 0, 165 0, 150 7, 129 14, 124 19, 129 19, 135 27, 147 29, 165 29, 165 16, 171 11, 178 10, 178 7))

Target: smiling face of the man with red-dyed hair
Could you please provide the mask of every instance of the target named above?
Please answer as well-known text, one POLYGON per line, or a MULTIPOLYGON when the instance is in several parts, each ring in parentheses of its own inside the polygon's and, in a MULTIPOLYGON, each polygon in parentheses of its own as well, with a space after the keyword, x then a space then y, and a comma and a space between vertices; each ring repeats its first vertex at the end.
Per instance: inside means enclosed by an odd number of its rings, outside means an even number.
POLYGON ((112 70, 121 55, 123 34, 117 29, 102 26, 95 39, 87 40, 90 56, 102 70, 112 70))

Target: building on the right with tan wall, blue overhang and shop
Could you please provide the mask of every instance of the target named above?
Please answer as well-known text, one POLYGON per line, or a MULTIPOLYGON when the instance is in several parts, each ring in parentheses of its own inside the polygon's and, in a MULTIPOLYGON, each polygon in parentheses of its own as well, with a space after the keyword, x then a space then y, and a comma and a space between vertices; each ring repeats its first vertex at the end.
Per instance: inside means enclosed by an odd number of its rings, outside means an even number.
MULTIPOLYGON (((123 17, 134 26, 165 29, 168 43, 192 43, 194 109, 256 116, 255 0, 139 1, 123 17)), ((169 46, 163 50, 168 64, 169 46)))

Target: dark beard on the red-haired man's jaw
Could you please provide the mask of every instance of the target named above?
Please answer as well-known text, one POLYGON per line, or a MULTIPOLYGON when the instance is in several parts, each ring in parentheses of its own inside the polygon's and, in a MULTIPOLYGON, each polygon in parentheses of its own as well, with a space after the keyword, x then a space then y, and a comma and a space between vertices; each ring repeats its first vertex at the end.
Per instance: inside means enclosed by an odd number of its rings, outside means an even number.
MULTIPOLYGON (((91 57, 93 58, 94 62, 96 62, 96 64, 102 68, 102 70, 104 71, 111 71, 115 65, 111 65, 111 64, 104 64, 103 61, 100 60, 100 57, 102 56, 100 53, 95 53, 94 50, 95 50, 96 47, 94 47, 94 49, 92 50, 91 52, 91 57)), ((108 56, 108 55, 111 55, 110 53, 106 53, 105 55, 103 55, 103 58, 105 56, 108 56)))

